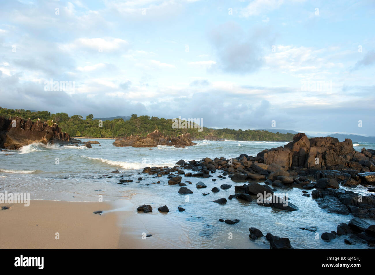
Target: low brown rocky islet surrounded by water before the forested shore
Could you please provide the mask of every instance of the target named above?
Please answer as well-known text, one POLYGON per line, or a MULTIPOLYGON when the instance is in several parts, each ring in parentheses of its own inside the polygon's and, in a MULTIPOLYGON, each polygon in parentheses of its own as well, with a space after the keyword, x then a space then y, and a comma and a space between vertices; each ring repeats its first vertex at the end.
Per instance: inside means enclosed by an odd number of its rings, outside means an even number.
POLYGON ((156 147, 158 145, 168 145, 175 147, 185 147, 196 145, 192 142, 192 137, 189 133, 179 135, 178 137, 164 136, 159 130, 155 130, 146 137, 139 137, 139 135, 130 135, 125 138, 116 138, 113 143, 114 146, 124 147, 156 147))

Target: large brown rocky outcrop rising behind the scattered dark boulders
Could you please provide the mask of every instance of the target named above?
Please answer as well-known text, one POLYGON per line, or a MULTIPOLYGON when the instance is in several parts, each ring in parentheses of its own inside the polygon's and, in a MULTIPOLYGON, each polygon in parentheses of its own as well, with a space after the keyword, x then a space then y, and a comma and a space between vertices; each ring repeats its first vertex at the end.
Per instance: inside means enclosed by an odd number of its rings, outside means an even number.
POLYGON ((258 155, 264 164, 278 164, 284 168, 302 167, 310 170, 375 171, 375 151, 362 149, 362 153, 353 148, 350 139, 339 142, 337 138, 311 138, 303 133, 293 137, 293 142, 284 147, 267 149, 258 155))

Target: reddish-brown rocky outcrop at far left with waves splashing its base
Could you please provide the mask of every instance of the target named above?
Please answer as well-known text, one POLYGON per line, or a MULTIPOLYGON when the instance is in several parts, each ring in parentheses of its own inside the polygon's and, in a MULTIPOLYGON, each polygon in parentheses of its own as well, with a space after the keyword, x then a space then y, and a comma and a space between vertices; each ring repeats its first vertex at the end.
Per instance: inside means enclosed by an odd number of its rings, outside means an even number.
POLYGON ((71 138, 56 123, 48 125, 40 119, 33 122, 31 119, 24 120, 20 117, 9 119, 0 117, 1 148, 19 149, 35 142, 68 144, 71 138))

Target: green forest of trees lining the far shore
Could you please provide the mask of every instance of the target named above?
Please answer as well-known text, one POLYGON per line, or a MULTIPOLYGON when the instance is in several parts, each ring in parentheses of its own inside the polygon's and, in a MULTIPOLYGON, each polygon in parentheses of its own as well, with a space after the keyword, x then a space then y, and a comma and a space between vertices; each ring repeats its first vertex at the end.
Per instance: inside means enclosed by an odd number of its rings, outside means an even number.
POLYGON ((229 128, 212 129, 204 127, 203 131, 197 129, 173 129, 172 119, 159 118, 155 116, 137 116, 132 114, 129 120, 122 118, 105 120, 102 123, 93 119, 93 114, 83 116, 75 114, 69 117, 67 113, 51 114, 49 111, 30 111, 24 109, 6 109, 0 107, 0 116, 30 118, 34 122, 37 119, 46 121, 48 124, 57 123, 64 132, 71 137, 92 137, 92 138, 116 138, 128 135, 146 136, 148 133, 159 129, 164 135, 178 136, 190 133, 196 139, 204 139, 211 135, 227 140, 241 141, 292 141, 294 134, 272 133, 263 130, 234 130, 229 128))

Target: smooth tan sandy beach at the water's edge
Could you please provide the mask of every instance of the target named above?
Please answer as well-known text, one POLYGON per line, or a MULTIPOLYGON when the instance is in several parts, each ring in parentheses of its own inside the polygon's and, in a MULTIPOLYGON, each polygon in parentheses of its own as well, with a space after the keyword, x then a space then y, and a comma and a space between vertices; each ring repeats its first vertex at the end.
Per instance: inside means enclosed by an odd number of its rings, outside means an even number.
MULTIPOLYGON (((119 216, 114 212, 93 214, 110 210, 110 203, 34 200, 28 207, 2 206, 9 209, 0 210, 1 248, 118 248, 119 216)), ((122 217, 126 215, 121 212, 122 217)), ((127 245, 133 246, 129 242, 127 245)))

